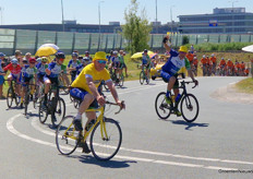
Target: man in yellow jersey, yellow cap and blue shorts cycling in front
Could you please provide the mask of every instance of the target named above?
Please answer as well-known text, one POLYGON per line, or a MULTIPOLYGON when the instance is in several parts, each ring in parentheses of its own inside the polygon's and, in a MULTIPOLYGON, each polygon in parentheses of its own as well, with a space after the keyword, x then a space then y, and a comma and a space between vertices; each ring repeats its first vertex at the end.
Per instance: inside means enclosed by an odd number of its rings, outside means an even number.
MULTIPOLYGON (((106 62, 107 62, 106 52, 104 51, 96 52, 93 59, 93 63, 86 65, 82 70, 80 75, 75 79, 75 81, 71 84, 70 95, 73 98, 76 98, 82 102, 79 108, 79 112, 73 121, 75 129, 77 131, 83 130, 81 122, 83 112, 85 112, 85 110, 88 107, 97 108, 98 104, 100 106, 104 106, 106 103, 104 96, 99 94, 97 90, 101 81, 105 81, 105 83, 109 87, 116 103, 124 108, 124 105, 122 106, 122 103, 118 97, 115 85, 110 79, 110 74, 105 69, 106 62)), ((85 129, 92 120, 96 120, 96 112, 88 111, 86 112, 86 117, 88 120, 85 124, 85 129)), ((91 152, 88 150, 86 142, 83 144, 83 152, 85 153, 91 152)))

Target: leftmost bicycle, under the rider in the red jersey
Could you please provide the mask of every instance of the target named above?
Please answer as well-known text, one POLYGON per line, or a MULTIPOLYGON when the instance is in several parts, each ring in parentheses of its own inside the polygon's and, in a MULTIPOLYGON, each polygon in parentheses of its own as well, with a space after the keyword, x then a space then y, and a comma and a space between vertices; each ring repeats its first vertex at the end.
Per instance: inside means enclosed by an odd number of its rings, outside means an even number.
MULTIPOLYGON (((10 80, 4 80, 4 81, 10 81, 10 80)), ((11 86, 9 86, 8 92, 7 92, 7 106, 9 108, 12 107, 13 102, 15 103, 15 105, 19 105, 19 96, 15 93, 15 90, 17 88, 17 82, 11 80, 11 86)))

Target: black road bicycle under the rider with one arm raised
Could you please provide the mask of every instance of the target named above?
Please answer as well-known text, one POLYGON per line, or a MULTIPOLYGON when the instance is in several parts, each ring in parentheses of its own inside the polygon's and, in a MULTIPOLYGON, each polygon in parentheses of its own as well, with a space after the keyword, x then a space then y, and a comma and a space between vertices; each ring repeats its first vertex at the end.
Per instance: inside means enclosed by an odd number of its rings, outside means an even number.
MULTIPOLYGON (((180 98, 178 102, 174 102, 174 95, 170 94, 170 99, 171 99, 171 105, 168 105, 166 103, 166 92, 161 92, 157 95, 156 102, 155 102, 155 108, 156 108, 156 114, 160 119, 168 119, 171 114, 176 114, 176 110, 178 109, 178 106, 180 104, 180 110, 182 114, 183 119, 186 122, 193 122, 200 111, 200 106, 196 97, 193 94, 190 94, 186 92, 186 86, 185 84, 190 84, 194 82, 180 82, 179 88, 182 88, 182 93, 180 94, 180 98)), ((192 88, 196 87, 194 85, 192 88)))

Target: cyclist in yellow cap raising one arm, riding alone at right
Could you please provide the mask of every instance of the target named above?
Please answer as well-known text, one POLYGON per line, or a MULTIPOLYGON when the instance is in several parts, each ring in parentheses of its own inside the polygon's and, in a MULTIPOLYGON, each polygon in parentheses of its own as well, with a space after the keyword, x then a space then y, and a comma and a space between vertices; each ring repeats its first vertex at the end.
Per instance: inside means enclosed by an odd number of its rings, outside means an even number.
MULTIPOLYGON (((185 55, 188 52, 188 48, 185 46, 181 46, 179 51, 176 51, 176 50, 170 48, 171 44, 168 41, 168 39, 169 39, 169 36, 166 36, 164 38, 162 43, 164 43, 164 47, 166 48, 166 50, 170 53, 170 58, 165 63, 165 65, 162 65, 160 75, 161 75, 162 80, 166 83, 168 83, 165 99, 169 105, 171 105, 172 100, 169 97, 170 92, 173 88, 174 96, 178 97, 178 95, 179 95, 179 88, 178 88, 179 82, 178 82, 177 76, 178 76, 178 71, 182 67, 186 68, 189 75, 191 76, 192 81, 196 85, 198 84, 198 82, 197 82, 197 80, 194 79, 192 70, 191 70, 190 62, 185 57, 185 55)), ((176 104, 177 104, 177 97, 176 97, 176 104)), ((176 111, 174 112, 176 112, 177 116, 181 116, 181 112, 178 110, 178 105, 176 105, 176 111)))

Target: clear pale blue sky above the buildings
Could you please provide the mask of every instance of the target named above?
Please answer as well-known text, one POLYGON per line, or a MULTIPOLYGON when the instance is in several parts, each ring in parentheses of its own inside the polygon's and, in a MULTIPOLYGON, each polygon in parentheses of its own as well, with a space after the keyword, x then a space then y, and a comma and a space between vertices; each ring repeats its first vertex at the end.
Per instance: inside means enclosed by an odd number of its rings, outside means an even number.
MULTIPOLYGON (((61 1, 64 20, 76 20, 77 24, 98 24, 98 4, 101 24, 124 24, 124 12, 131 4, 131 0, 0 0, 0 24, 60 24, 61 1)), ((137 0, 138 11, 145 9, 149 22, 156 20, 156 1, 157 21, 161 24, 171 19, 178 22, 178 15, 210 14, 215 8, 232 5, 253 13, 253 0, 137 0)))

